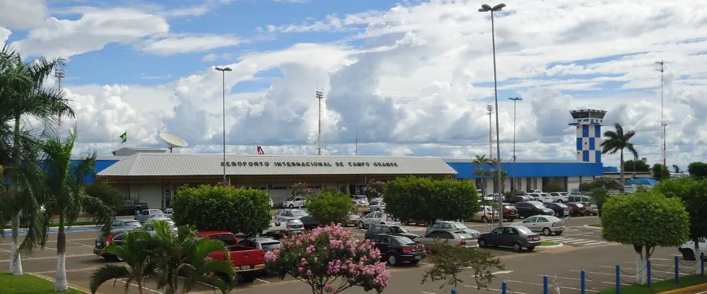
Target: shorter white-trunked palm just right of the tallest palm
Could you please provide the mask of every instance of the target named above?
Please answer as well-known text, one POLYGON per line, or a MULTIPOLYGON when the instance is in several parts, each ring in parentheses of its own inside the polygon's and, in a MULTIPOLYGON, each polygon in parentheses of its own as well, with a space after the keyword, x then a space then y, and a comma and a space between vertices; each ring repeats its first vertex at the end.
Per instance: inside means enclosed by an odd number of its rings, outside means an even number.
POLYGON ((83 159, 78 165, 72 165, 71 150, 74 149, 76 131, 71 131, 66 141, 59 140, 55 137, 42 142, 42 151, 45 154, 42 165, 47 171, 45 219, 59 216, 57 278, 54 290, 64 291, 69 288, 66 281, 66 226, 74 223, 79 213, 82 213, 100 224, 101 230, 107 233, 115 211, 100 199, 86 195, 81 187, 80 177, 85 172, 78 168, 93 168, 95 155, 83 159))

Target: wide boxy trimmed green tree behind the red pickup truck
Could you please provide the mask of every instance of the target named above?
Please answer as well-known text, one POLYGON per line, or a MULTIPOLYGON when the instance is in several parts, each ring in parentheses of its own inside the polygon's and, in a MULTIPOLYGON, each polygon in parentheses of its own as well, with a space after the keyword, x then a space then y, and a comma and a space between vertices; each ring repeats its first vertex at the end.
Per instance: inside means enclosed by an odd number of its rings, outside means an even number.
POLYGON ((256 189, 182 186, 173 203, 178 225, 258 235, 270 227, 270 196, 256 189))

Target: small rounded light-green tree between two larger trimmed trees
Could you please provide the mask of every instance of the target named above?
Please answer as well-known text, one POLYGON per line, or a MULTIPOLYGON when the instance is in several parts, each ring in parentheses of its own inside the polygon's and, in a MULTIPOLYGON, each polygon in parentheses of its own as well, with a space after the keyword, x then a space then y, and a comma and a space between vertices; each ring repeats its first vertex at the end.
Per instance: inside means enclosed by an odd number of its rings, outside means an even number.
POLYGON ((320 223, 346 223, 349 214, 356 211, 351 197, 335 190, 325 190, 310 197, 307 210, 320 223))

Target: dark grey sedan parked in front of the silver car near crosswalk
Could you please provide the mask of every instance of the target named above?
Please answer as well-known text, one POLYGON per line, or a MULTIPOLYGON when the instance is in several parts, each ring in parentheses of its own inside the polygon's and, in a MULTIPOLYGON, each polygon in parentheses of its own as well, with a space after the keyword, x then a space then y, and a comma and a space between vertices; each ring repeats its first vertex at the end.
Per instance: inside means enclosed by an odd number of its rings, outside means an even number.
POLYGON ((532 251, 537 245, 540 245, 540 236, 523 226, 507 225, 496 228, 491 233, 479 235, 479 248, 489 245, 513 247, 515 251, 520 251, 523 248, 532 251))

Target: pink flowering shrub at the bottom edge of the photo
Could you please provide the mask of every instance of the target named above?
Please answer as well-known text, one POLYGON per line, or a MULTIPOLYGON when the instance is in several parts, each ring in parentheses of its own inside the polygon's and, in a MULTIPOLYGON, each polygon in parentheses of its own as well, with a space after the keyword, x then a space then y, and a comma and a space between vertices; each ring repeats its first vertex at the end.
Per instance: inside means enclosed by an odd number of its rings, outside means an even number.
POLYGON ((341 225, 287 237, 281 247, 265 254, 267 269, 280 278, 290 275, 308 283, 312 293, 341 293, 358 286, 381 293, 390 281, 380 252, 341 225))

